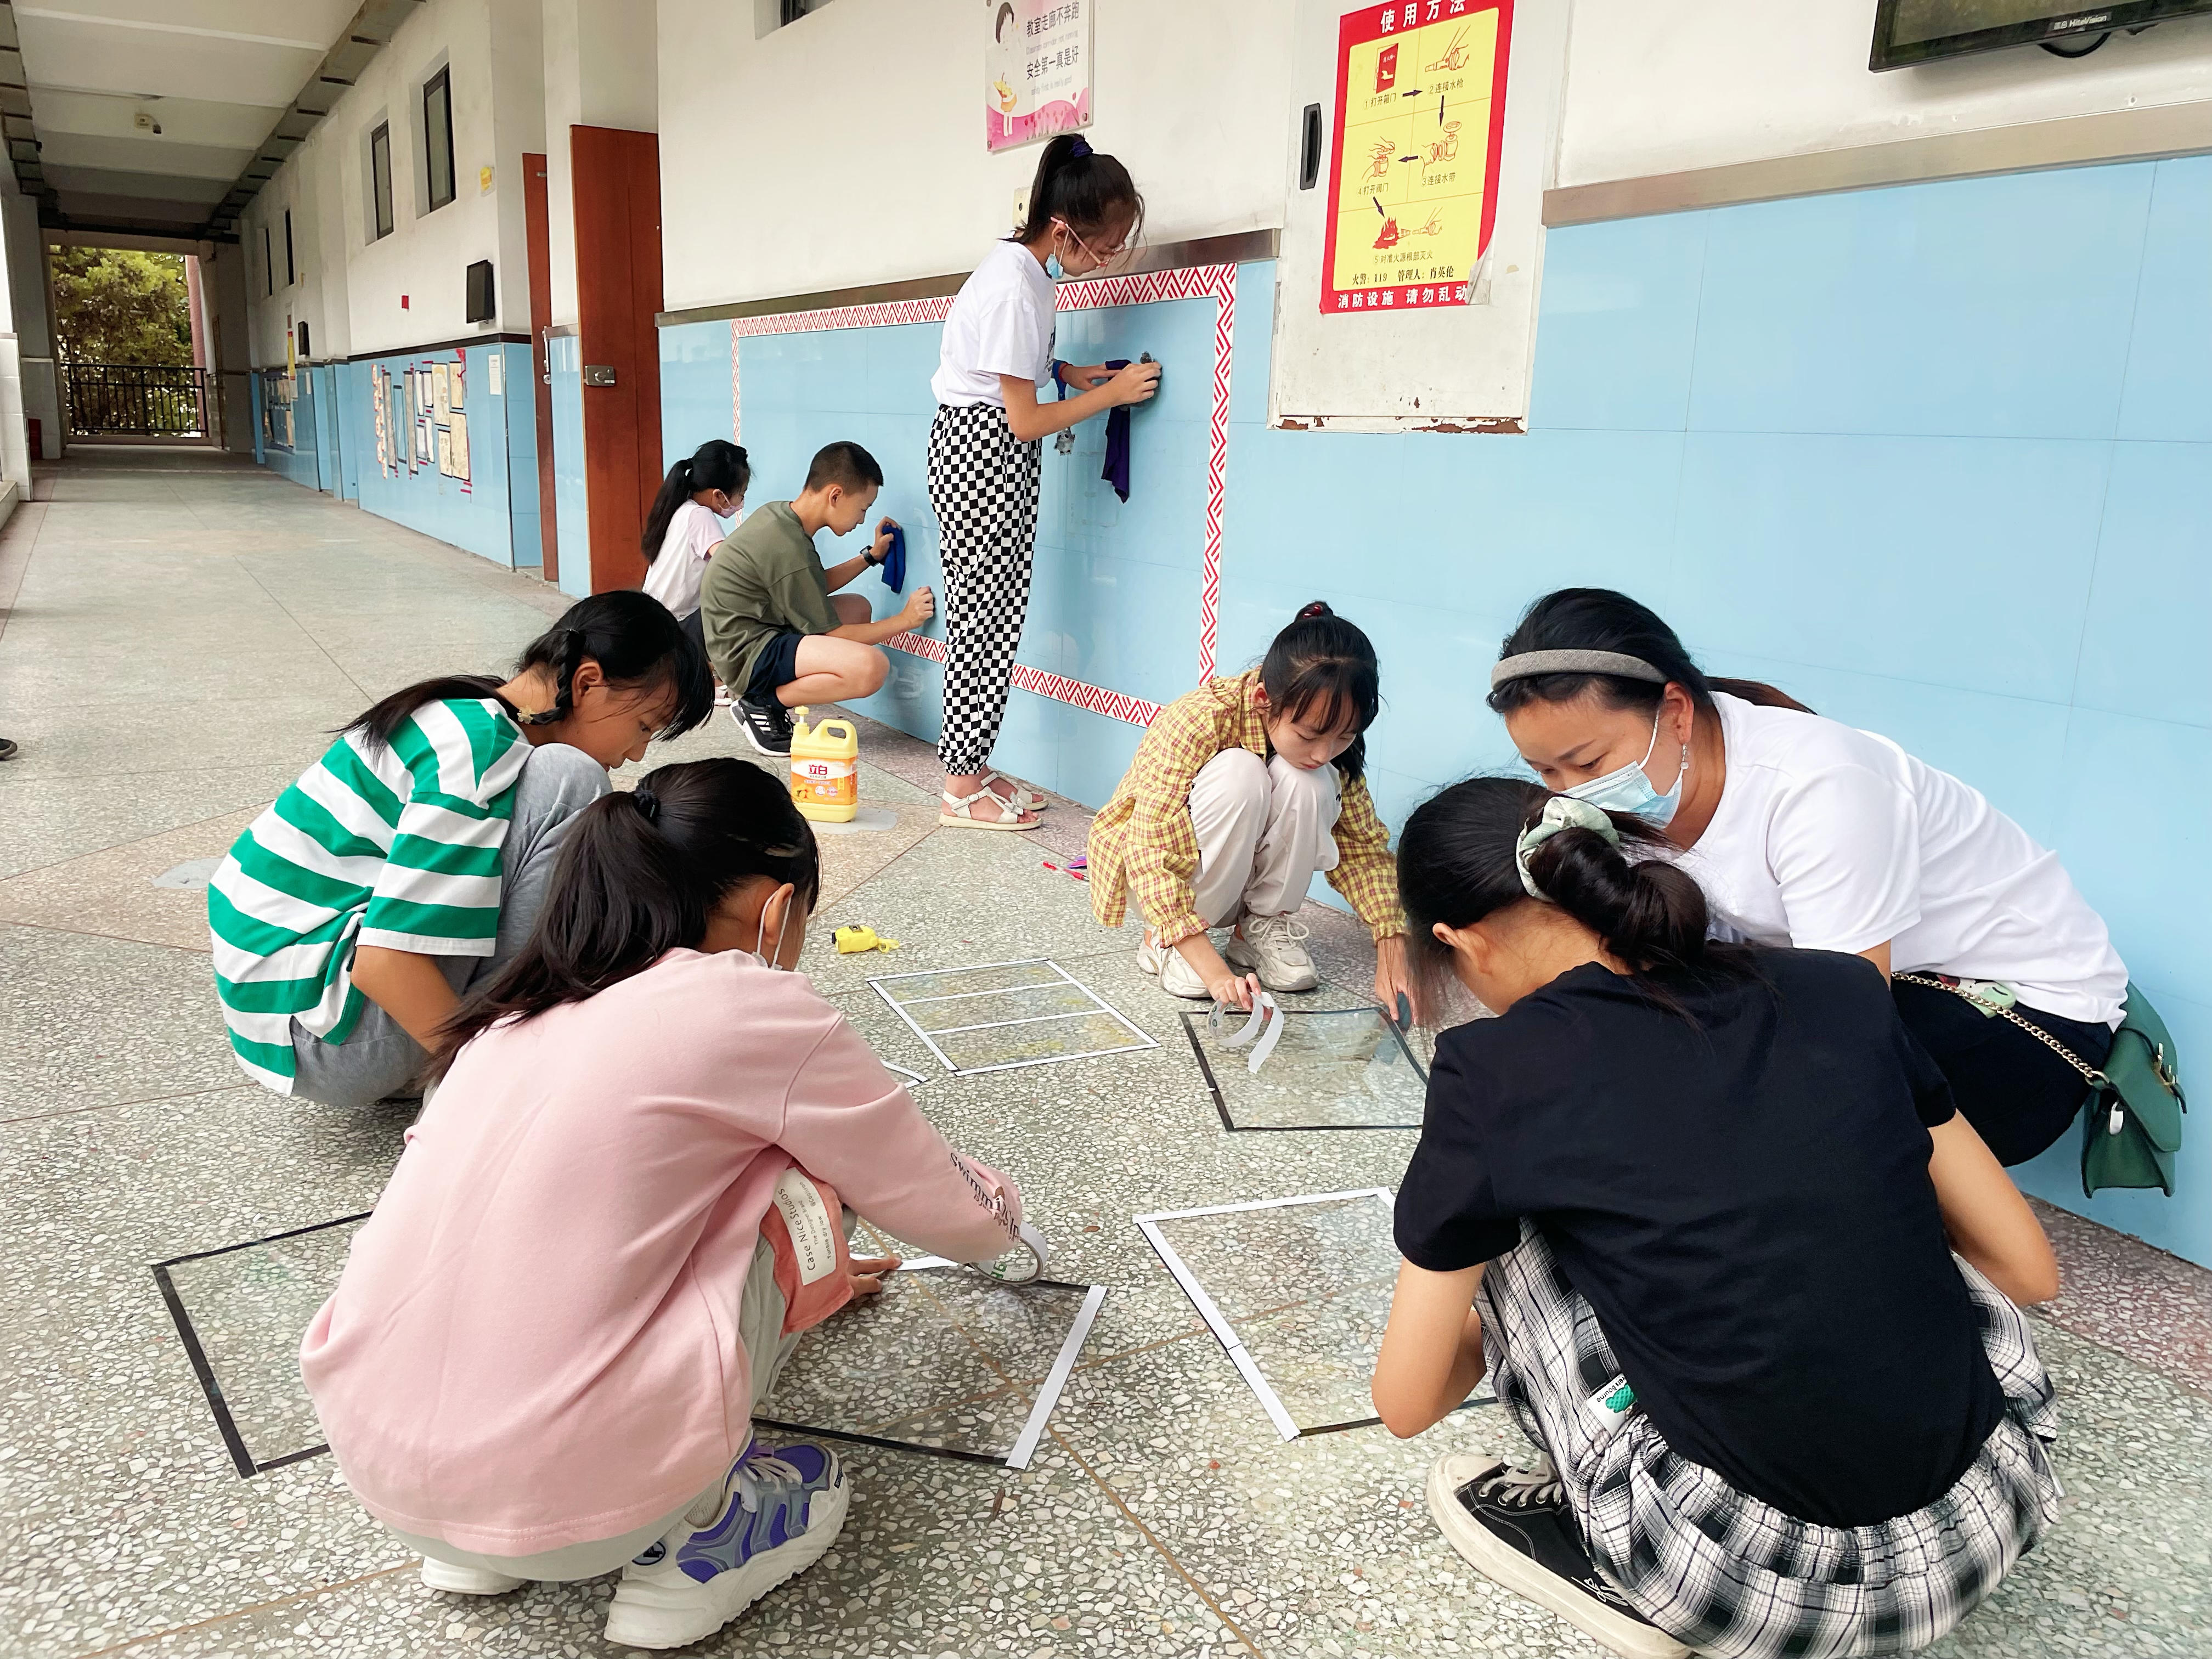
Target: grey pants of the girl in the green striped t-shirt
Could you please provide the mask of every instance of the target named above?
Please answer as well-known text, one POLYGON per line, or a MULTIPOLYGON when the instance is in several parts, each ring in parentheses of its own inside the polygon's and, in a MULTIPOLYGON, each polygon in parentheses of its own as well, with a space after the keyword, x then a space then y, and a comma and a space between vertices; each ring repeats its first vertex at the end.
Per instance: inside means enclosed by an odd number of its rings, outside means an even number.
MULTIPOLYGON (((540 743, 515 781, 515 812, 500 843, 500 936, 491 956, 440 956, 438 967, 456 991, 495 971, 522 949, 538 925, 553 863, 568 841, 568 823, 613 790, 606 768, 566 743, 540 743)), ((323 1042, 292 1022, 292 1095, 323 1106, 369 1106, 405 1091, 429 1055, 374 1002, 361 1009, 345 1042, 323 1042)))

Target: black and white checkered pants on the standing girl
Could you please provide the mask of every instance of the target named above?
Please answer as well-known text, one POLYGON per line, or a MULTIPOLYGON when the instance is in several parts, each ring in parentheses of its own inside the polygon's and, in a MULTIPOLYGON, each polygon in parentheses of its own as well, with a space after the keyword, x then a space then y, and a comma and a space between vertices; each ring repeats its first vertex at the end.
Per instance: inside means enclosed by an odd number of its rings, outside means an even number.
POLYGON ((945 555, 945 734, 951 776, 982 772, 1013 684, 1037 540, 1042 442, 1018 442, 995 403, 938 405, 929 507, 945 555))

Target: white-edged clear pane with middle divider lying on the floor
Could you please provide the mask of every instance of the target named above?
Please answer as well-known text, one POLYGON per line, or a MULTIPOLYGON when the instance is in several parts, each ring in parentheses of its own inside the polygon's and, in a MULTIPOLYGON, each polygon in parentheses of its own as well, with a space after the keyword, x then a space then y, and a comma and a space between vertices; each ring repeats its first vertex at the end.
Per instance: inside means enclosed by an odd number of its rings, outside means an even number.
POLYGON ((956 1077, 1159 1046, 1044 958, 885 973, 869 984, 956 1077))

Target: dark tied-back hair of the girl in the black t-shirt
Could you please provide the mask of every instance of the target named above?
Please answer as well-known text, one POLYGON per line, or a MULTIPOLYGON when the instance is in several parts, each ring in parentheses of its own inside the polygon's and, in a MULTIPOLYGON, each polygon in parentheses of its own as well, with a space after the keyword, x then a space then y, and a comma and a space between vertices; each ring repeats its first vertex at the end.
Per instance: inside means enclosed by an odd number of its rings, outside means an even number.
MULTIPOLYGON (((1422 801, 1398 836, 1398 896, 1411 925, 1411 958, 1422 1006, 1447 1006, 1451 947, 1436 925, 1471 927, 1513 905, 1531 902, 1515 852, 1544 816, 1551 792, 1520 779, 1467 779, 1422 801)), ((1657 856, 1666 836, 1628 812, 1608 812, 1619 845, 1597 830, 1566 827, 1528 854, 1528 880, 1544 900, 1588 927, 1621 958, 1646 991, 1670 973, 1743 973, 1739 947, 1705 938, 1712 920, 1705 894, 1686 872, 1657 856)))

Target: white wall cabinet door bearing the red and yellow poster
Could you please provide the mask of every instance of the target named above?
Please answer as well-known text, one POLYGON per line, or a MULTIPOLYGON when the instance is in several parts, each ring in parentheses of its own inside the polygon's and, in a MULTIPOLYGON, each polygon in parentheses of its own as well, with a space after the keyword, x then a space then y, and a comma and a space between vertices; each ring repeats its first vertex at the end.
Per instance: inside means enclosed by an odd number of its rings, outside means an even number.
POLYGON ((1270 425, 1524 431, 1568 0, 1296 18, 1270 425))

